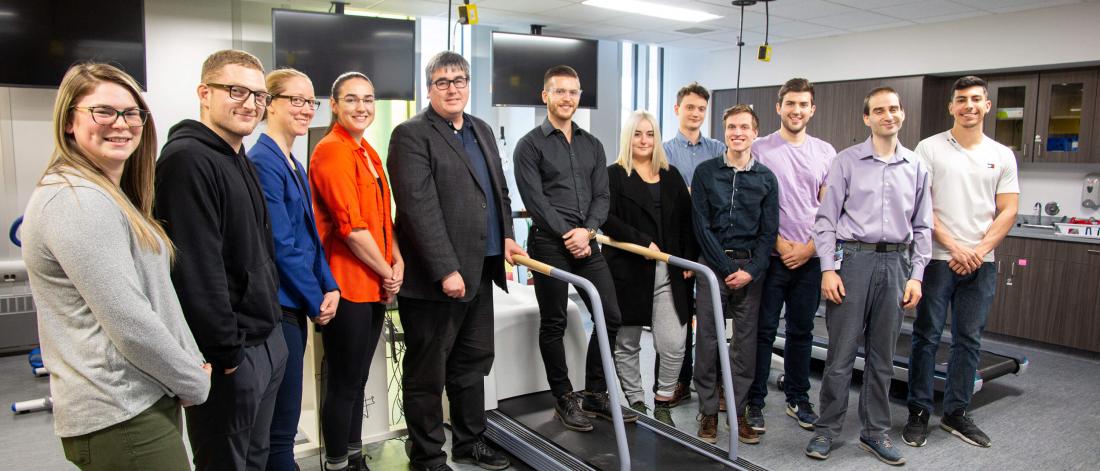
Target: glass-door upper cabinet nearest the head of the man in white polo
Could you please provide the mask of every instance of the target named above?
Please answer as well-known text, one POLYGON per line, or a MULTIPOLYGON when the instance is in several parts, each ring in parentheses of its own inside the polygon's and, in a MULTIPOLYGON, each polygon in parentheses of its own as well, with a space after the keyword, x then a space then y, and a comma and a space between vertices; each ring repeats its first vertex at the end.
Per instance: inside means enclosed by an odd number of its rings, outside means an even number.
POLYGON ((1030 162, 1035 142, 1038 75, 991 77, 988 85, 993 108, 986 114, 986 134, 1011 149, 1016 162, 1030 162))

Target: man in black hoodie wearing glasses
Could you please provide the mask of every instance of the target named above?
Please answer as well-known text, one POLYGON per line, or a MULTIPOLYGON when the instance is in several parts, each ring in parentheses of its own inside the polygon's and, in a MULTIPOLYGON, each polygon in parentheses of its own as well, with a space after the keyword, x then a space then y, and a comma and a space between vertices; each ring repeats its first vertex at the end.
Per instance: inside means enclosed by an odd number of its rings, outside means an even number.
POLYGON ((260 59, 242 51, 211 54, 201 80, 199 121, 173 127, 161 151, 154 208, 177 249, 184 316, 213 364, 187 435, 199 470, 262 470, 287 348, 271 220, 242 141, 271 96, 260 59))

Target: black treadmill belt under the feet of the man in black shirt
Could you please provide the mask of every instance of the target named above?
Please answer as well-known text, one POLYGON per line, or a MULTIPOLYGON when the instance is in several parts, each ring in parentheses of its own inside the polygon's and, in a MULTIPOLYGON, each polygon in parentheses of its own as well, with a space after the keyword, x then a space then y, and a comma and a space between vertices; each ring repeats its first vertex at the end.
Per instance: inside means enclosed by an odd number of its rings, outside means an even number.
MULTIPOLYGON (((595 418, 594 430, 572 431, 553 417, 553 395, 550 392, 541 392, 501 401, 498 410, 593 468, 619 469, 615 429, 610 421, 595 418)), ((685 435, 700 447, 700 450, 692 449, 640 424, 647 419, 656 421, 649 417, 640 417, 639 423, 626 425, 632 469, 695 471, 730 468, 728 463, 719 462, 712 457, 717 453, 723 460, 728 461, 722 449, 685 435)), ((657 425, 663 426, 660 423, 657 425)), ((675 430, 671 427, 667 429, 670 432, 675 430)), ((741 469, 761 469, 741 459, 737 462, 741 469)))

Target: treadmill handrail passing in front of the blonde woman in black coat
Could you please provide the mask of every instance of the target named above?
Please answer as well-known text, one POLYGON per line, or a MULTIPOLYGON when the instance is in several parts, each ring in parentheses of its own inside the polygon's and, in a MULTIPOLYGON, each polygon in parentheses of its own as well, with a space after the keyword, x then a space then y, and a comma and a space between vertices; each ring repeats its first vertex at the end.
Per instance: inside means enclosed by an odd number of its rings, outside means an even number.
MULTIPOLYGON (((718 360, 722 363, 722 384, 725 388, 726 404, 727 407, 726 418, 729 419, 729 460, 737 461, 737 402, 734 401, 734 376, 733 372, 729 370, 729 349, 726 348, 726 317, 722 311, 722 295, 719 294, 718 277, 714 274, 711 267, 693 262, 686 259, 682 259, 669 253, 656 251, 646 247, 638 245, 630 242, 619 242, 604 234, 596 234, 596 241, 614 247, 619 250, 625 250, 627 252, 636 253, 638 255, 645 256, 647 259, 658 260, 670 265, 680 266, 682 269, 689 269, 696 274, 702 273, 706 278, 707 284, 711 285, 711 305, 714 306, 714 331, 717 336, 718 341, 718 360)), ((690 327, 689 327, 690 328, 690 327)), ((686 348, 686 346, 685 346, 686 348)))

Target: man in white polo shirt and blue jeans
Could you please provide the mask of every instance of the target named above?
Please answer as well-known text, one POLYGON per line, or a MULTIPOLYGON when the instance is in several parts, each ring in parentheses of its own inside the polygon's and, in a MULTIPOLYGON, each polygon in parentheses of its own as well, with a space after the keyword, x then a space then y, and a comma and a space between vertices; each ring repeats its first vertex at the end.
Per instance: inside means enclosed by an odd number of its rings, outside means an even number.
POLYGON ((991 108, 986 81, 966 76, 952 89, 948 110, 955 125, 916 146, 931 175, 935 228, 909 359, 910 414, 902 437, 914 447, 924 446, 928 437, 936 349, 948 313, 953 335, 939 426, 967 443, 990 446, 966 409, 997 289, 993 249, 1015 222, 1020 199, 1015 156, 982 134, 991 108))

